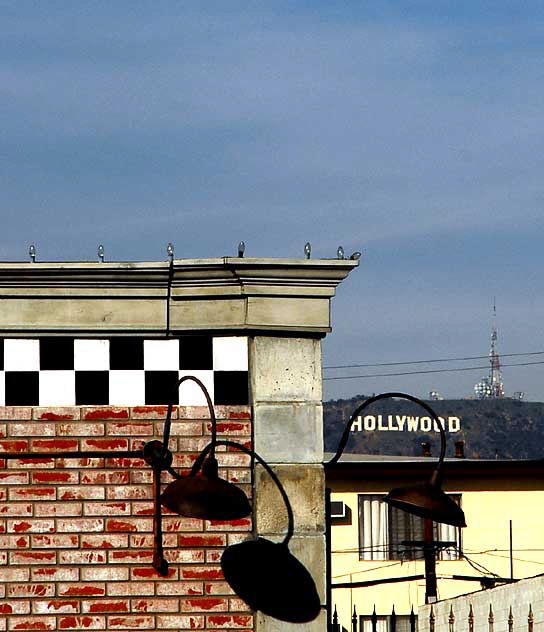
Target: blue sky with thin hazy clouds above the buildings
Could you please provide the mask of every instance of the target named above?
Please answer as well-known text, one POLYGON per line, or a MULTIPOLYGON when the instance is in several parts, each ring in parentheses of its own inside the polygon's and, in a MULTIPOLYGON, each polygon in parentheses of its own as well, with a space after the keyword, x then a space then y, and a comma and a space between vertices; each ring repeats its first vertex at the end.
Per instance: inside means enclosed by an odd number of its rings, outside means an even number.
MULTIPOLYGON (((93 260, 99 243, 113 260, 163 259, 168 241, 178 257, 342 244, 364 256, 325 365, 485 355, 493 297, 499 350, 544 350, 543 14, 0 2, 0 258, 30 243, 41 260, 93 260)), ((542 401, 543 367, 505 368, 507 392, 542 401)), ((463 396, 479 377, 328 381, 326 395, 463 396)))

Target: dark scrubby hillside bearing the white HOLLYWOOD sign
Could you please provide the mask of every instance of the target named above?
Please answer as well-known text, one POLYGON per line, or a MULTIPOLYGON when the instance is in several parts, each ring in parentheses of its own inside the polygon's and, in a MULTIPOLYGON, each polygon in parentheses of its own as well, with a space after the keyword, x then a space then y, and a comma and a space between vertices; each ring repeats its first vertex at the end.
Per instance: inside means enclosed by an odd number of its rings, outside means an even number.
MULTIPOLYGON (((326 451, 336 450, 345 423, 366 397, 324 403, 326 451)), ((455 399, 429 404, 446 420, 458 418, 446 424, 453 430, 459 426, 457 432, 448 432, 448 456, 453 455, 454 441, 463 440, 468 458, 544 458, 544 403, 455 399)), ((365 409, 363 416, 367 415, 360 430, 352 431, 346 452, 413 456, 420 455, 421 443, 428 441, 433 454, 438 454, 439 435, 432 428, 429 431, 428 418, 421 419, 426 413, 420 406, 382 400, 365 409)))

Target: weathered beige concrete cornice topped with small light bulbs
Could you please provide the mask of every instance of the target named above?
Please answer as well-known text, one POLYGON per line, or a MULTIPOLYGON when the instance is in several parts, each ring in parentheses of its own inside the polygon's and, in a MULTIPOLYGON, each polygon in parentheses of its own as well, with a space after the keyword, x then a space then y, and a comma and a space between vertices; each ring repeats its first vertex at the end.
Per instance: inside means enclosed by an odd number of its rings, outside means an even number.
POLYGON ((330 331, 344 259, 0 263, 0 333, 330 331), (170 297, 170 298, 169 298, 170 297))

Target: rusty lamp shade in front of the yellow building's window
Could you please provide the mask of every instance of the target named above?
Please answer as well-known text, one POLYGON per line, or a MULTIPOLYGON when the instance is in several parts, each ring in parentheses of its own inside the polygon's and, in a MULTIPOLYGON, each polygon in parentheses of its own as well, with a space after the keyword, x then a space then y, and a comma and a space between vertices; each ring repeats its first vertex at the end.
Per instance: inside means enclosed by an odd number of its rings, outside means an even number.
POLYGON ((466 527, 465 514, 439 485, 424 483, 411 487, 396 487, 384 498, 385 502, 415 514, 421 518, 430 518, 435 522, 444 522, 454 527, 466 527))

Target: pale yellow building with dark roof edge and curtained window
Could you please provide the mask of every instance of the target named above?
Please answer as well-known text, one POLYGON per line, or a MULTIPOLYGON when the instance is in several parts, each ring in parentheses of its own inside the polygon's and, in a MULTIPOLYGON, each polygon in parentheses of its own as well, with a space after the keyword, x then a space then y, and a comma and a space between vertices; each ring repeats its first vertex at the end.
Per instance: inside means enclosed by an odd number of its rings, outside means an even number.
MULTIPOLYGON (((383 497, 428 479, 434 465, 428 457, 344 454, 326 467, 332 603, 347 630, 354 606, 363 622, 375 608, 383 632, 394 607, 399 632, 407 629, 411 609, 417 613, 425 603, 422 548, 403 544, 423 539, 423 520, 388 506, 383 497), (420 578, 401 579, 413 576, 420 578), (396 581, 372 585, 380 580, 396 581), (367 585, 334 588, 347 583, 367 585)), ((460 503, 467 527, 435 525, 434 539, 454 543, 437 553, 438 599, 480 590, 479 577, 544 572, 544 461, 446 459, 443 475, 443 488, 460 503)))

